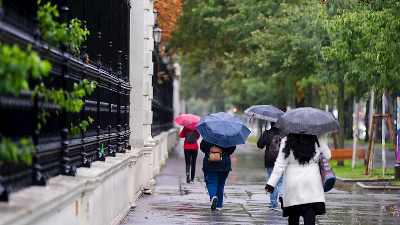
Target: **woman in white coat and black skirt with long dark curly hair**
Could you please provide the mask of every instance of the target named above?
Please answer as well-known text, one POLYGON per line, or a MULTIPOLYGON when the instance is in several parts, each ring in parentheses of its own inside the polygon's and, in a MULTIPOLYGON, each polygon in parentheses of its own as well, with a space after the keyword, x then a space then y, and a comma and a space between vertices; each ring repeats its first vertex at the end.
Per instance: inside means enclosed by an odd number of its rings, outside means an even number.
POLYGON ((280 176, 283 178, 283 216, 289 225, 298 225, 300 216, 304 225, 315 225, 315 216, 325 211, 325 193, 318 161, 323 153, 331 157, 328 145, 321 137, 289 133, 280 144, 274 170, 265 186, 272 193, 280 176))

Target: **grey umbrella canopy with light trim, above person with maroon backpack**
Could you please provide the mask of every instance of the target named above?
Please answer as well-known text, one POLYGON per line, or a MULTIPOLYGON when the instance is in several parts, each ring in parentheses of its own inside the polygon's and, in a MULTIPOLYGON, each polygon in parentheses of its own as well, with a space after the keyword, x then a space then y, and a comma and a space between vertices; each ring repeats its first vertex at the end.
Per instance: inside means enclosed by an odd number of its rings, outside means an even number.
POLYGON ((285 112, 272 105, 253 105, 244 114, 264 121, 276 122, 285 112))

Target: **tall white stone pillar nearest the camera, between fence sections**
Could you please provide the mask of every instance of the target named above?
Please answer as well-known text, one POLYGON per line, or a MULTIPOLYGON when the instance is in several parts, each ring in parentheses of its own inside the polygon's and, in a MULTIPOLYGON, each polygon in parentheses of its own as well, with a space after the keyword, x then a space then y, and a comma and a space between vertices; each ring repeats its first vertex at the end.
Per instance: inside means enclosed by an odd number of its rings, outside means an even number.
POLYGON ((153 2, 150 0, 132 1, 130 10, 130 144, 129 154, 143 151, 139 156, 141 169, 141 187, 149 190, 154 183, 152 147, 155 146, 151 137, 153 96, 152 53, 153 39, 153 2))

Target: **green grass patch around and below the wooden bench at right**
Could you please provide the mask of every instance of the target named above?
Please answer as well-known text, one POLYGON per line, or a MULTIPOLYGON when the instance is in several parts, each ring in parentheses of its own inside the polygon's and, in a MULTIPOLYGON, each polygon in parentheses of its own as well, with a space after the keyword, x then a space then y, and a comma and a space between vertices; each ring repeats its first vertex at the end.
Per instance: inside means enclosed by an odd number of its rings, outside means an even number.
MULTIPOLYGON (((375 169, 370 175, 364 175, 365 165, 364 163, 358 163, 356 168, 352 168, 351 160, 344 161, 344 166, 338 167, 337 161, 329 161, 330 166, 332 167, 333 172, 337 177, 342 178, 378 178, 378 177, 393 177, 393 175, 382 175, 382 169, 375 169)), ((394 170, 386 170, 388 174, 394 174, 394 170)))

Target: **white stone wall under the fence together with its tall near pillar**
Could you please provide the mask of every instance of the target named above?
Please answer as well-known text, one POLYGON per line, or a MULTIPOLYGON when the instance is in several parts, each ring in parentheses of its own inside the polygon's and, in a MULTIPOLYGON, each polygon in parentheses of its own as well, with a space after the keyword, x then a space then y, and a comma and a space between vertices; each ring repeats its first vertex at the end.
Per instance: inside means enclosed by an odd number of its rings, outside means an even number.
POLYGON ((168 153, 178 144, 178 129, 151 137, 153 3, 131 1, 130 10, 130 144, 91 168, 78 168, 76 177, 58 176, 47 186, 32 186, 0 202, 0 225, 119 224, 142 192, 150 193, 168 153))

